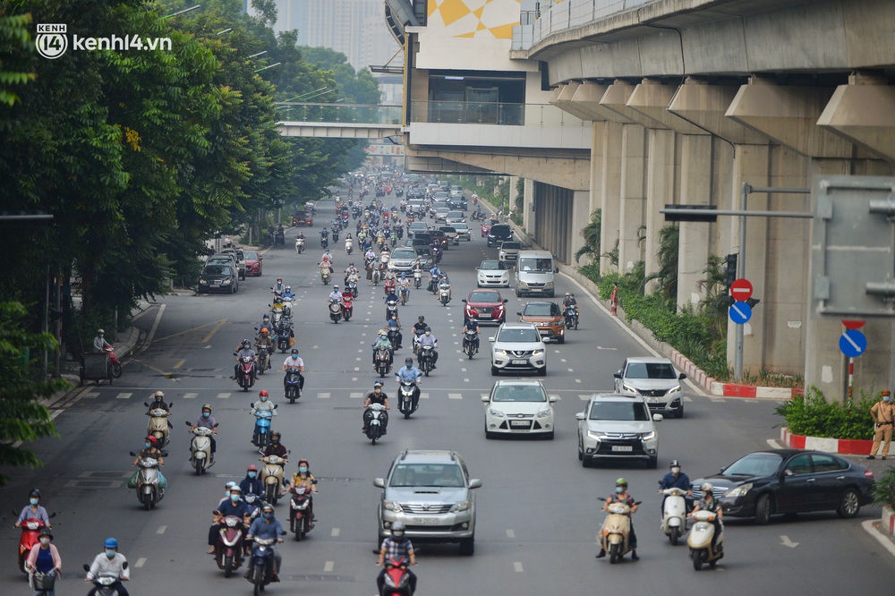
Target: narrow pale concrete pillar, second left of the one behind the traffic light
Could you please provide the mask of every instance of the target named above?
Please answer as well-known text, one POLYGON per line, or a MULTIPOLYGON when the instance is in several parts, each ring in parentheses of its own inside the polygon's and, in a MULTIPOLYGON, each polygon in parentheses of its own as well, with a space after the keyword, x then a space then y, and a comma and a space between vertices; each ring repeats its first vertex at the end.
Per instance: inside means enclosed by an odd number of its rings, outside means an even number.
POLYGON ((646 130, 643 126, 622 124, 621 156, 618 268, 627 273, 644 258, 644 247, 640 243, 646 202, 646 130))

